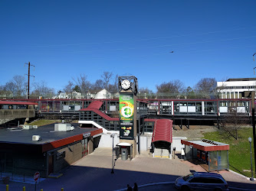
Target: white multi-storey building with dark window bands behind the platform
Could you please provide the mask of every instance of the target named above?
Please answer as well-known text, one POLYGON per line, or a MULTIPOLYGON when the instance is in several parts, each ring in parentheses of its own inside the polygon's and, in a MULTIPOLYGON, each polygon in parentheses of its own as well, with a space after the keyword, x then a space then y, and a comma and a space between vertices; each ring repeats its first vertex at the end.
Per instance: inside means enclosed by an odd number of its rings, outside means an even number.
POLYGON ((256 78, 228 79, 225 82, 217 82, 221 99, 241 99, 242 92, 255 91, 256 78))

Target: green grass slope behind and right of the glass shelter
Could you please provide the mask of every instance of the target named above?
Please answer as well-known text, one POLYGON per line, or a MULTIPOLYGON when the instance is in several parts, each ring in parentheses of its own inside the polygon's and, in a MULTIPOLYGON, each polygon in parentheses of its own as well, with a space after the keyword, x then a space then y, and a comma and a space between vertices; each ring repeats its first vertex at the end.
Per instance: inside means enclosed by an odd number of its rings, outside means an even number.
MULTIPOLYGON (((205 133, 204 135, 206 139, 229 144, 228 159, 230 170, 234 170, 237 173, 243 173, 245 176, 251 177, 251 154, 248 138, 253 138, 252 128, 239 129, 238 140, 231 138, 231 136, 228 137, 228 133, 224 131, 215 131, 205 133)), ((255 177, 253 141, 251 142, 251 149, 255 177)))

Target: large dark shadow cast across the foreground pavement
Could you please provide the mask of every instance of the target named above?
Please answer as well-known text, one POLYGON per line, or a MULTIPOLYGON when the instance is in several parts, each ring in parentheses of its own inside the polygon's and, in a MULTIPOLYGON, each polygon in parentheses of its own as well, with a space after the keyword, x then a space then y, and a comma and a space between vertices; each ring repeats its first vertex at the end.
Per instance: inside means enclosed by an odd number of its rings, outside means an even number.
MULTIPOLYGON (((126 185, 137 183, 139 190, 175 190, 176 175, 160 173, 143 173, 130 170, 114 170, 97 167, 71 166, 64 170, 64 175, 58 179, 46 179, 37 185, 37 190, 126 190, 126 185), (143 186, 149 183, 169 182, 168 184, 143 186)), ((34 190, 34 185, 23 183, 9 183, 9 190, 34 190)), ((242 188, 241 190, 256 190, 255 184, 228 182, 229 187, 242 188)), ((0 184, 0 190, 5 190, 5 185, 0 184)), ((239 190, 239 189, 231 189, 239 190)))

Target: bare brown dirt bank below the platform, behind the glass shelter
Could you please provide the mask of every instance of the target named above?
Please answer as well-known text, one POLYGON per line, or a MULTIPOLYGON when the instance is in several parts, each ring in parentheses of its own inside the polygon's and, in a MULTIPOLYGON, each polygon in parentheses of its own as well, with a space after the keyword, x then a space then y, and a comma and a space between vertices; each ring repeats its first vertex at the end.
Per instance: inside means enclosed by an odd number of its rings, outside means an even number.
POLYGON ((183 125, 182 128, 180 128, 179 125, 174 125, 172 136, 186 138, 204 138, 203 133, 213 131, 218 131, 218 128, 208 125, 189 125, 189 128, 183 125))

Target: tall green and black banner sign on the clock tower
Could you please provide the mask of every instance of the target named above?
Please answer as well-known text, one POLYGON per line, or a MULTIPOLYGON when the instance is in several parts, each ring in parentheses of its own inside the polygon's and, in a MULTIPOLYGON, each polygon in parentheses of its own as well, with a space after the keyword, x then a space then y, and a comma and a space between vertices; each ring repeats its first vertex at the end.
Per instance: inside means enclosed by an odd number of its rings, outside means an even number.
POLYGON ((120 93, 119 111, 120 111, 120 139, 132 140, 134 138, 133 114, 135 111, 133 93, 120 93))

